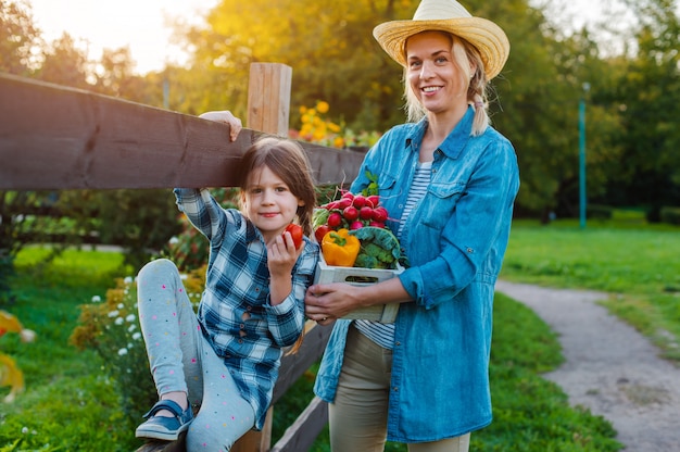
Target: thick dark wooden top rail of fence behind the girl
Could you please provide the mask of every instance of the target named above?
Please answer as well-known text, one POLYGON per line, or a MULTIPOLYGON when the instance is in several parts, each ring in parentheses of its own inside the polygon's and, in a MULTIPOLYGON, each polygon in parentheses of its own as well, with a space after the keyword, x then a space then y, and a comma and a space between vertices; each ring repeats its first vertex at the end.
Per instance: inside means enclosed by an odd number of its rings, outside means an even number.
MULTIPOLYGON (((261 134, 0 74, 0 189, 235 186, 261 134)), ((303 143, 317 184, 354 178, 361 153, 303 143)))

